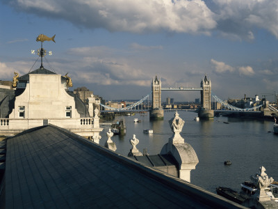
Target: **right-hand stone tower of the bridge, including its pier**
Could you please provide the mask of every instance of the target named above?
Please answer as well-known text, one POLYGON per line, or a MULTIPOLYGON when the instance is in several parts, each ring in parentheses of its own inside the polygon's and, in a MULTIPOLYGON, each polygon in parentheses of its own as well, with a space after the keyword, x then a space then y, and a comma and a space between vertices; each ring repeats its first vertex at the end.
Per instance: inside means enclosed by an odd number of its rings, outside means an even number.
POLYGON ((211 109, 211 79, 204 77, 201 81, 201 109, 199 118, 211 119, 214 117, 214 111, 211 109))

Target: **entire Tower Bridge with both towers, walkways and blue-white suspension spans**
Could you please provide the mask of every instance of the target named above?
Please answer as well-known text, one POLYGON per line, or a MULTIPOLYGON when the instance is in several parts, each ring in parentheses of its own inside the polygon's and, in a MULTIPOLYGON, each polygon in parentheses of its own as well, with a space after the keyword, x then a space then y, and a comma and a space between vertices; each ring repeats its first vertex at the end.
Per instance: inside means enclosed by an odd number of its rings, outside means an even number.
MULTIPOLYGON (((105 108, 105 110, 101 110, 101 112, 120 112, 120 111, 125 111, 125 112, 138 112, 138 111, 149 111, 149 118, 151 120, 163 120, 164 116, 164 109, 161 106, 161 92, 162 91, 200 91, 201 95, 201 108, 198 109, 198 116, 199 118, 213 118, 214 114, 231 114, 232 112, 236 113, 242 113, 243 111, 248 111, 248 114, 258 114, 261 113, 265 115, 265 112, 263 111, 255 111, 263 106, 257 105, 256 107, 251 107, 251 108, 245 108, 245 109, 240 109, 238 107, 234 107, 231 104, 228 104, 227 102, 224 102, 220 98, 218 98, 217 95, 213 94, 211 92, 211 79, 208 79, 206 76, 202 78, 200 87, 162 87, 161 86, 161 78, 155 77, 152 79, 152 93, 149 93, 149 95, 146 95, 144 98, 139 100, 138 102, 132 104, 129 107, 124 107, 124 108, 114 108, 114 107, 108 107, 104 104, 100 104, 102 107, 105 108), (149 96, 152 94, 152 109, 142 109, 141 110, 138 108, 136 110, 136 107, 139 107, 140 104, 143 102, 147 101, 149 104, 149 96), (222 107, 224 109, 215 111, 211 109, 211 99, 214 99, 215 101, 219 102, 222 104, 222 107)), ((148 105, 149 106, 149 105, 148 105)), ((271 112, 267 113, 270 115, 273 111, 277 113, 277 109, 273 110, 271 109, 272 107, 268 104, 264 104, 264 107, 269 109, 271 112)))

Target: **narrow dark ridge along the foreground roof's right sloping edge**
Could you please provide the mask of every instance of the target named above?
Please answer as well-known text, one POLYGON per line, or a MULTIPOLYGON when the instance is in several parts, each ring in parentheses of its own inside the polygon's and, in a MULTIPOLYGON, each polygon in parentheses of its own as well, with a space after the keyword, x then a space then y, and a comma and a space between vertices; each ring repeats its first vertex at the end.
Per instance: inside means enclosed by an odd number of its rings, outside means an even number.
POLYGON ((179 192, 186 193, 188 196, 192 197, 193 199, 197 199, 198 201, 201 200, 201 202, 206 205, 213 206, 215 208, 238 208, 237 203, 234 203, 233 201, 227 201, 227 199, 218 196, 218 194, 208 192, 205 189, 202 189, 201 187, 188 183, 186 180, 174 177, 158 169, 147 167, 145 164, 133 160, 131 157, 125 157, 123 155, 120 155, 119 153, 116 153, 113 150, 109 150, 108 148, 100 146, 99 144, 96 144, 92 141, 88 141, 87 139, 56 125, 49 126, 62 131, 64 134, 67 134, 67 136, 74 136, 74 139, 77 139, 77 141, 79 141, 81 144, 89 146, 90 148, 105 155, 106 157, 109 157, 117 162, 125 164, 127 167, 131 167, 132 169, 135 169, 136 171, 143 173, 147 177, 152 178, 158 181, 159 183, 167 185, 167 187, 171 187, 172 189, 178 190, 179 192))

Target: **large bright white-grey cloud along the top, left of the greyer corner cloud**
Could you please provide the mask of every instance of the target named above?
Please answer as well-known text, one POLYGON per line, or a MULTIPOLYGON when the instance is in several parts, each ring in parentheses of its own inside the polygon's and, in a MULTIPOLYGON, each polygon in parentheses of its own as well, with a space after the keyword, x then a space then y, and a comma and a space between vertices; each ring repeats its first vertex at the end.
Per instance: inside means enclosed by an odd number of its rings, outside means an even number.
POLYGON ((89 29, 210 34, 216 26, 213 13, 201 0, 12 0, 7 3, 17 10, 67 20, 89 29))

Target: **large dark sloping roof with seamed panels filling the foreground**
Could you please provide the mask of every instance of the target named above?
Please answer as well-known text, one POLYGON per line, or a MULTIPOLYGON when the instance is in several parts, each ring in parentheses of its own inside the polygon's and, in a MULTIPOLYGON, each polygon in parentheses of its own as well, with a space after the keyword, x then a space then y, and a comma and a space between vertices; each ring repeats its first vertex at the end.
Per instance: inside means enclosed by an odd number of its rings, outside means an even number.
POLYGON ((53 125, 7 140, 6 208, 238 208, 53 125))

